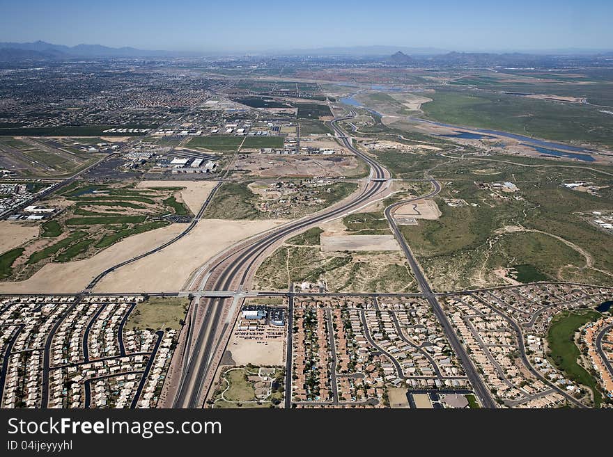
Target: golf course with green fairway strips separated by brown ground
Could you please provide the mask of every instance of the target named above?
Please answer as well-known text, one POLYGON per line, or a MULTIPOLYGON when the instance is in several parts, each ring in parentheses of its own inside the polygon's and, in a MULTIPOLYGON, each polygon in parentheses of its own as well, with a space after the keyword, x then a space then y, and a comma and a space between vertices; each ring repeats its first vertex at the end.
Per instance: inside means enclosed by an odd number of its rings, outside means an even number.
MULTIPOLYGON (((181 190, 168 186, 137 189, 134 184, 73 182, 42 201, 42 205, 62 211, 40 225, 40 236, 22 241, 24 250, 15 259, 11 278, 25 280, 48 262, 92 257, 129 236, 169 225, 168 216, 189 216, 191 212, 181 200, 181 190)), ((38 232, 38 226, 33 226, 38 232)))

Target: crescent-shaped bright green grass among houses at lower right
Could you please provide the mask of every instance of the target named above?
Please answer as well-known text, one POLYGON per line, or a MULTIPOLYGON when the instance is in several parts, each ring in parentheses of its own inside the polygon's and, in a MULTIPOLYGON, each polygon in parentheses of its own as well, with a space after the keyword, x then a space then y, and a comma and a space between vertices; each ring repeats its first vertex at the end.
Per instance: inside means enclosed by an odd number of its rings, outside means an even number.
POLYGON ((547 344, 552 362, 566 373, 568 378, 591 389, 596 407, 603 401, 597 380, 584 369, 577 359, 580 351, 575 344, 575 332, 586 323, 600 318, 595 311, 562 312, 554 317, 547 334, 547 344))

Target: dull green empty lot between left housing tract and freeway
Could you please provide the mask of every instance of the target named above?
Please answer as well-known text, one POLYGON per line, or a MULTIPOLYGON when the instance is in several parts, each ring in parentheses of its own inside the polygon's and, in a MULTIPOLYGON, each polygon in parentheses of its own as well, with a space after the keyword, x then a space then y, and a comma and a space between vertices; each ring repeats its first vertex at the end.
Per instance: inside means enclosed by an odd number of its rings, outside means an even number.
POLYGON ((149 297, 134 308, 125 328, 154 331, 166 328, 180 330, 188 305, 187 298, 149 297))

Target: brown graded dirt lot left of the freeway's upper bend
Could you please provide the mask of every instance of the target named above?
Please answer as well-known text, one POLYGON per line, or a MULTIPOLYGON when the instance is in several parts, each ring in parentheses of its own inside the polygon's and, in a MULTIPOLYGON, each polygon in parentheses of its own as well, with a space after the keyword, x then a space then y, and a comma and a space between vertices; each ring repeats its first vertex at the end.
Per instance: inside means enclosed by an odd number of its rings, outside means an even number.
POLYGON ((278 156, 251 154, 236 160, 234 170, 258 177, 312 177, 359 175, 364 167, 353 156, 278 156))

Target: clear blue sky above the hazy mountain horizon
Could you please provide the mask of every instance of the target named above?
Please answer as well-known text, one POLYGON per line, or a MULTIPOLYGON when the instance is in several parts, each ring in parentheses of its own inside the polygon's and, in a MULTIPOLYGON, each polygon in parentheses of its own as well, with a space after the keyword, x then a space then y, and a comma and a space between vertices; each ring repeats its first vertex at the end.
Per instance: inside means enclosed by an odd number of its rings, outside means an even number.
POLYGON ((0 41, 186 51, 613 48, 613 0, 0 0, 0 41))

